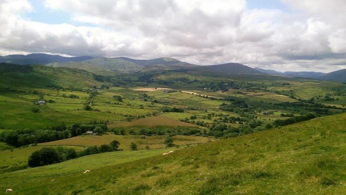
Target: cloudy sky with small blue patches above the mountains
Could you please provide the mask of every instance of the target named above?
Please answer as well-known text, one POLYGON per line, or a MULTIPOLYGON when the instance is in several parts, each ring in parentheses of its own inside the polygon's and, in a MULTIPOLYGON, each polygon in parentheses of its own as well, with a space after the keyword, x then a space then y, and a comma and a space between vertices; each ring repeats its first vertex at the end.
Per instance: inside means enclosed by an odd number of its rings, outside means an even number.
POLYGON ((346 69, 346 0, 0 0, 0 55, 346 69))

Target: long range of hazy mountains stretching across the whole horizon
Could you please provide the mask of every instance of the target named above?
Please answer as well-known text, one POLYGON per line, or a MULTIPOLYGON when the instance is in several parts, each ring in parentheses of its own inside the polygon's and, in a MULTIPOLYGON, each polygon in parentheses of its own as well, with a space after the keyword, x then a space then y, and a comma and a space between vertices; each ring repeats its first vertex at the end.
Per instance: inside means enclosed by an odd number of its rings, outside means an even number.
POLYGON ((261 68, 251 68, 238 63, 226 63, 210 66, 199 66, 182 62, 173 58, 163 57, 149 60, 132 59, 128 57, 63 57, 43 53, 28 55, 0 56, 0 63, 19 65, 45 65, 49 67, 66 67, 85 70, 102 76, 112 76, 119 73, 148 72, 156 70, 179 70, 200 75, 277 75, 295 78, 311 78, 332 81, 346 81, 346 70, 332 73, 319 72, 278 72, 261 68))

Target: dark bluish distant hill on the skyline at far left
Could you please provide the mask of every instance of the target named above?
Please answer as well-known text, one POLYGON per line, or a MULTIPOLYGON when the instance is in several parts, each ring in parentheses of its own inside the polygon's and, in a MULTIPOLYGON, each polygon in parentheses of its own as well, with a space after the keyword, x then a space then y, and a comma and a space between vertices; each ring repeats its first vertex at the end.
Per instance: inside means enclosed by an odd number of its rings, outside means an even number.
POLYGON ((80 62, 92 59, 91 56, 63 57, 59 55, 49 55, 44 53, 32 53, 28 55, 7 55, 0 56, 0 62, 29 65, 29 64, 48 64, 51 62, 80 62))

